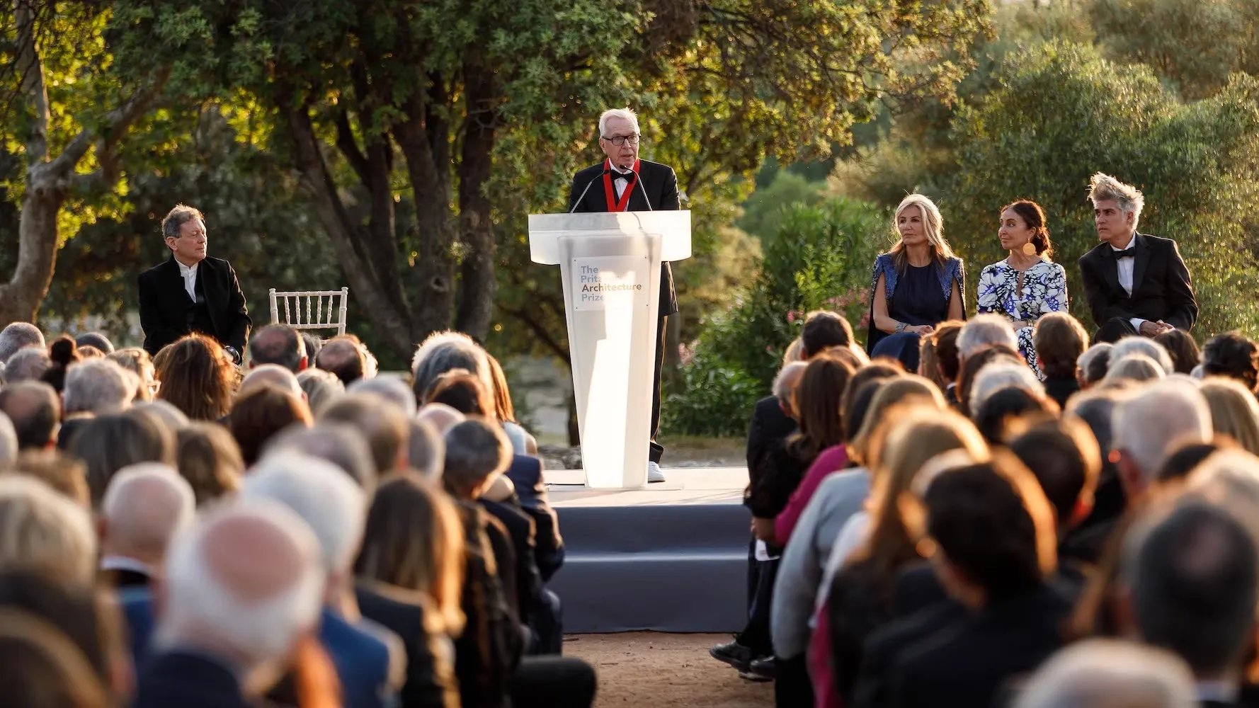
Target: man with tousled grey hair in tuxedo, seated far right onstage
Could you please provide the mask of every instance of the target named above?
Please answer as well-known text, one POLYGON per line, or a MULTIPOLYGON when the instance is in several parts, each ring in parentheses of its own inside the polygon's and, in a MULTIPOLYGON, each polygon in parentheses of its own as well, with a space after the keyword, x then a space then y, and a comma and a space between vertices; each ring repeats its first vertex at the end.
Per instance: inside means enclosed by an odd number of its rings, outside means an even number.
POLYGON ((1094 341, 1192 329, 1197 302, 1176 242, 1137 232, 1141 190, 1098 173, 1089 199, 1102 243, 1080 257, 1080 275, 1099 328, 1094 341))

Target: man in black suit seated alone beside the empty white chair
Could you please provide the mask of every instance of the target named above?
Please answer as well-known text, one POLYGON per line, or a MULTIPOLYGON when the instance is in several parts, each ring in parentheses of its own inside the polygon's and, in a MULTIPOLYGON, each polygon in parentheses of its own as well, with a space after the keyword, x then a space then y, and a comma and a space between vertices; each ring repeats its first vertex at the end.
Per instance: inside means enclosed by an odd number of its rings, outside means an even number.
POLYGON ((205 254, 205 219, 184 204, 161 222, 171 257, 140 273, 140 328, 145 350, 156 355, 176 339, 201 333, 240 363, 249 336, 249 311, 232 265, 205 254))

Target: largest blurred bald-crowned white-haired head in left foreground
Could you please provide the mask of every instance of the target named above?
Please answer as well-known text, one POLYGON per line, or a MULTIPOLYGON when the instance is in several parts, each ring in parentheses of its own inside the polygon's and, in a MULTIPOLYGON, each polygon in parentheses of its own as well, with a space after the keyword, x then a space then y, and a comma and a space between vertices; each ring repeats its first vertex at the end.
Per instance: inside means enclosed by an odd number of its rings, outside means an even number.
POLYGON ((319 539, 287 506, 249 499, 212 509, 171 539, 154 644, 214 650, 238 671, 258 671, 315 630, 324 595, 319 539))

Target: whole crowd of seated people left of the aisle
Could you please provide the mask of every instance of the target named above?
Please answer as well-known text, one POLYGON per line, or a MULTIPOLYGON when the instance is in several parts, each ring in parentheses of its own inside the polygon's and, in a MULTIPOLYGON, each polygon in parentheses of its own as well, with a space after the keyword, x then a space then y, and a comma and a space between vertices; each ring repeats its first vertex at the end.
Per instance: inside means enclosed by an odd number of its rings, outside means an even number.
POLYGON ((499 363, 354 336, 0 331, 0 703, 588 708, 499 363))

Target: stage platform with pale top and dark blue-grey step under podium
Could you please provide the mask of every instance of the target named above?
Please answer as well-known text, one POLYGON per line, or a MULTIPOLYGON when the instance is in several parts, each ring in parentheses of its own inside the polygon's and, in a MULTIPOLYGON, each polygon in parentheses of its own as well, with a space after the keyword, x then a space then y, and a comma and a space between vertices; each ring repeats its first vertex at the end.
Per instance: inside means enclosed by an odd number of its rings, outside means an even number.
POLYGON ((633 490, 585 489, 580 470, 545 472, 567 549, 549 583, 565 632, 743 629, 748 470, 663 471, 667 481, 633 490))

